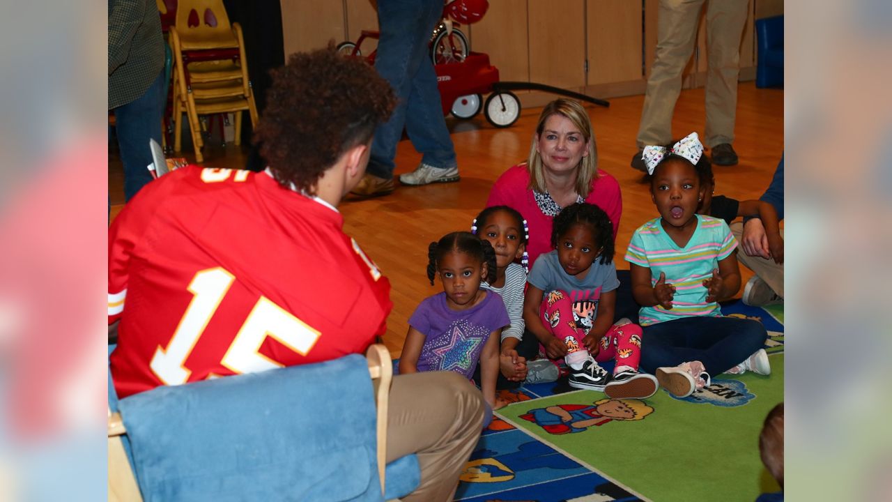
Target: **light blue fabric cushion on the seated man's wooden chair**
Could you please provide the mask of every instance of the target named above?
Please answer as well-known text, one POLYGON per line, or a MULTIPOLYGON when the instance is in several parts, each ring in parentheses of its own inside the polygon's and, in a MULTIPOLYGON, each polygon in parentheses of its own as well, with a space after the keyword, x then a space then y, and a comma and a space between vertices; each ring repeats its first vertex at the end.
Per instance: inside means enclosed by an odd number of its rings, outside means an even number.
POLYGON ((159 387, 119 406, 147 501, 382 498, 362 356, 159 387))

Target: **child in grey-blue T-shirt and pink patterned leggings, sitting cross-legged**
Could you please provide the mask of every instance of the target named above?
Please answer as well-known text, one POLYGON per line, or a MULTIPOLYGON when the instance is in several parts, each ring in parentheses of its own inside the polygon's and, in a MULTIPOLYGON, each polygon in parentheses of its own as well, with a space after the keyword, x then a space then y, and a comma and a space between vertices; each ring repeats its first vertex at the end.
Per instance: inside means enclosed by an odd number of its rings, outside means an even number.
POLYGON ((614 324, 619 280, 613 264, 613 224, 597 205, 578 203, 555 217, 554 251, 530 272, 524 321, 551 359, 564 358, 569 384, 601 390, 608 397, 650 397, 657 380, 638 372, 641 329, 614 324), (613 376, 598 361, 615 359, 613 376))

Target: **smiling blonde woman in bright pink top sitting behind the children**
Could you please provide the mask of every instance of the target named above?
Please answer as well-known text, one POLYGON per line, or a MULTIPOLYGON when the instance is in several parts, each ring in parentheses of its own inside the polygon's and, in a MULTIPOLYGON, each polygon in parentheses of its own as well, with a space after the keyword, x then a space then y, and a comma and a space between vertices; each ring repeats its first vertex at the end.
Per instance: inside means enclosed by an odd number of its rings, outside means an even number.
POLYGON ((524 215, 530 227, 526 251, 532 268, 539 255, 551 251, 555 215, 577 202, 603 209, 616 238, 623 213, 619 183, 598 169, 589 113, 578 102, 559 98, 542 109, 529 160, 496 180, 486 206, 508 205, 524 215))

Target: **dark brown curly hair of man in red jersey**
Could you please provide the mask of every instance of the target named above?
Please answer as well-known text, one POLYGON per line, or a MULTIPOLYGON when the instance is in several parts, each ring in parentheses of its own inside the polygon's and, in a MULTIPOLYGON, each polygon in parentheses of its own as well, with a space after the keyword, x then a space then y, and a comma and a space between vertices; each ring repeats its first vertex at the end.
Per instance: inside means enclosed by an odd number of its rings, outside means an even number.
POLYGON ((316 183, 351 147, 367 143, 390 118, 396 97, 374 68, 333 45, 292 54, 270 72, 267 107, 254 130, 276 180, 316 195, 316 183))

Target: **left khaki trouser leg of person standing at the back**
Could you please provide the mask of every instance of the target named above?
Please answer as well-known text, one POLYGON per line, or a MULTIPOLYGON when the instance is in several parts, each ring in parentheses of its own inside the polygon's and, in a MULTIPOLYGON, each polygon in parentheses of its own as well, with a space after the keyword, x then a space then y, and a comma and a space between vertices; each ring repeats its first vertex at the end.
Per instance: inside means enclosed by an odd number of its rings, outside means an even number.
POLYGON ((672 116, 681 93, 681 71, 694 53, 704 0, 661 0, 657 51, 641 110, 638 147, 665 145, 672 136, 672 116))

